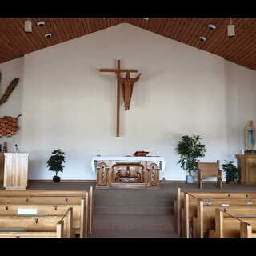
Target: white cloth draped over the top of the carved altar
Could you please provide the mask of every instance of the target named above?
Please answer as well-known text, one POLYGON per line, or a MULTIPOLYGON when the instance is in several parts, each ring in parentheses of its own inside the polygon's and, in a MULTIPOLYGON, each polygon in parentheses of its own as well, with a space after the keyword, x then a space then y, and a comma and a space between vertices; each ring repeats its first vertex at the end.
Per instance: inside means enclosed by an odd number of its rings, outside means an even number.
POLYGON ((106 156, 106 157, 103 157, 103 156, 100 156, 100 157, 93 157, 91 159, 91 170, 95 173, 95 164, 94 164, 94 161, 104 161, 104 160, 113 160, 113 161, 125 161, 125 162, 140 162, 140 161, 155 161, 155 162, 161 162, 161 172, 163 173, 165 168, 166 168, 166 161, 164 158, 162 157, 134 157, 134 156, 131 156, 131 157, 109 157, 109 156, 106 156))

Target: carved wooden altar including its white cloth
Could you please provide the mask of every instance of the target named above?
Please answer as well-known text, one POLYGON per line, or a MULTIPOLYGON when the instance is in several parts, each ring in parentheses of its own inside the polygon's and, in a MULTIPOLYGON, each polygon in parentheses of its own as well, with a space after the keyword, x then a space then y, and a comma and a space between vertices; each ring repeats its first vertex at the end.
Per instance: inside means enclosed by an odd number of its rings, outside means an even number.
POLYGON ((160 157, 96 157, 92 160, 92 169, 96 170, 96 188, 112 186, 159 186, 159 171, 163 170, 163 158, 160 157))

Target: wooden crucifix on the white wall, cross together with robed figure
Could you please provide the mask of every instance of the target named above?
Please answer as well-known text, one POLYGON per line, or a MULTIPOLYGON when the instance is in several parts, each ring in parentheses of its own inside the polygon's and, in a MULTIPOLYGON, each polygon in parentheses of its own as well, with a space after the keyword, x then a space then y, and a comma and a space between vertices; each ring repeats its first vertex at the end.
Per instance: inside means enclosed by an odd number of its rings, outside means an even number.
POLYGON ((116 118, 116 137, 120 137, 120 84, 122 85, 122 95, 125 102, 125 110, 130 109, 130 99, 133 92, 134 82, 137 82, 141 74, 136 78, 130 78, 130 73, 137 73, 138 70, 124 70, 120 68, 120 60, 117 60, 116 69, 100 69, 100 72, 114 72, 117 78, 117 118, 116 118), (120 73, 126 73, 126 77, 122 78, 120 73))

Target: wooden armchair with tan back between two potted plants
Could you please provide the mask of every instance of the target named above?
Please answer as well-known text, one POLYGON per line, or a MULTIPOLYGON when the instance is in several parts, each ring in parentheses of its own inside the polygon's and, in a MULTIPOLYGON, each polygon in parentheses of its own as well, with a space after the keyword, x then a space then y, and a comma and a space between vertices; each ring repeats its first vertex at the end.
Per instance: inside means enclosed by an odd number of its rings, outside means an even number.
POLYGON ((222 170, 219 169, 217 162, 199 162, 198 161, 198 187, 202 189, 202 178, 217 177, 217 186, 222 189, 222 170))

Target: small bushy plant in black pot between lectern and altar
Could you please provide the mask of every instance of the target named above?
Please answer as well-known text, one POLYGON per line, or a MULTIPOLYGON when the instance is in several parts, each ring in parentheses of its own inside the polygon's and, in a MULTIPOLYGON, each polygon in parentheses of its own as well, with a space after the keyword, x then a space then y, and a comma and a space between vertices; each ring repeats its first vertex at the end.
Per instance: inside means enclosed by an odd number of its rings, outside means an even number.
POLYGON ((60 182, 61 178, 58 177, 58 172, 63 172, 63 163, 65 162, 65 153, 62 150, 54 150, 50 159, 47 161, 47 167, 50 171, 54 171, 56 175, 53 177, 54 182, 60 182))

